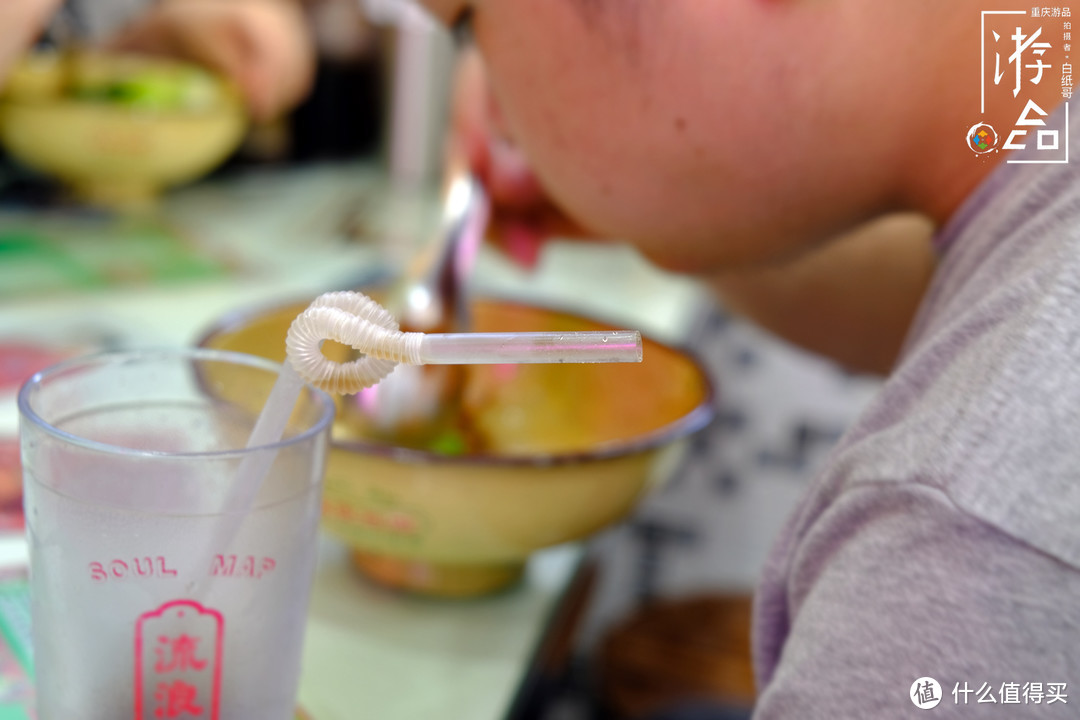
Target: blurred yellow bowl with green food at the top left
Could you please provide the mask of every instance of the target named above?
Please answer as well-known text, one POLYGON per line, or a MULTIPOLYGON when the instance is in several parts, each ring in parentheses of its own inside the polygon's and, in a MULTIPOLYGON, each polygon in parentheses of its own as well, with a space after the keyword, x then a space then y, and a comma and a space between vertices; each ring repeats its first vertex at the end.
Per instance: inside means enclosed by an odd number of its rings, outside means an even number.
POLYGON ((0 144, 83 201, 109 207, 143 206, 201 177, 246 127, 231 86, 160 58, 33 54, 0 95, 0 144))

